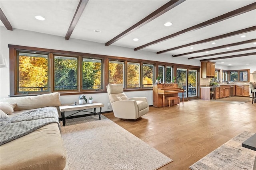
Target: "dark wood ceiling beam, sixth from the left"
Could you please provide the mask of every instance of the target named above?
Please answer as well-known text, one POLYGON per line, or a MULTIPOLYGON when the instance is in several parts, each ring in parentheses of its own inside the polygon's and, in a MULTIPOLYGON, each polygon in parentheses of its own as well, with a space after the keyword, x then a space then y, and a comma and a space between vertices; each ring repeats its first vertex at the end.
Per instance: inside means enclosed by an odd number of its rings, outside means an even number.
POLYGON ((256 39, 250 39, 250 40, 246 40, 246 41, 242 41, 242 42, 238 42, 238 43, 232 43, 232 44, 227 44, 227 45, 221 45, 218 47, 213 47, 213 48, 208 48, 208 49, 202 49, 202 50, 198 50, 198 51, 192 51, 189 53, 183 53, 183 54, 178 54, 178 55, 172 55, 172 57, 180 57, 182 55, 189 55, 189 54, 194 54, 194 53, 201 53, 201 52, 206 52, 206 51, 212 51, 212 50, 216 50, 216 49, 222 49, 222 48, 227 48, 227 47, 232 47, 232 46, 236 46, 236 45, 241 45, 241 44, 247 44, 247 43, 254 43, 256 42, 256 39))

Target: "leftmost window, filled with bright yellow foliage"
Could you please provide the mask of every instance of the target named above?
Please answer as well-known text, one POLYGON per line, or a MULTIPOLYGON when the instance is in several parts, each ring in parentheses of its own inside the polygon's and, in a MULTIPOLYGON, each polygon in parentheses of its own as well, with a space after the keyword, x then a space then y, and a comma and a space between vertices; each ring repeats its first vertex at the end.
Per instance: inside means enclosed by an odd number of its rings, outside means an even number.
POLYGON ((18 92, 49 91, 48 60, 48 54, 18 52, 18 92))

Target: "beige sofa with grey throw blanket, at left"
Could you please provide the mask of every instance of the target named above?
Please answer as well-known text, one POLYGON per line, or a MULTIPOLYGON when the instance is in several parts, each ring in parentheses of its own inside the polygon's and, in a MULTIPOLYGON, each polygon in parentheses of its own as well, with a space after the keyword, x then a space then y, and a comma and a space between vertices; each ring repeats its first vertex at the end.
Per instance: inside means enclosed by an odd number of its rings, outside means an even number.
MULTIPOLYGON (((1 118, 22 114, 37 108, 59 111, 60 94, 2 98, 1 118), (13 108, 10 109, 10 107, 13 108), (8 110, 9 109, 9 110, 8 110), (3 113, 4 112, 4 113, 3 113), (13 113, 12 113, 13 112, 13 113)), ((59 123, 50 123, 0 146, 1 170, 63 170, 66 167, 66 151, 60 135, 59 123)))

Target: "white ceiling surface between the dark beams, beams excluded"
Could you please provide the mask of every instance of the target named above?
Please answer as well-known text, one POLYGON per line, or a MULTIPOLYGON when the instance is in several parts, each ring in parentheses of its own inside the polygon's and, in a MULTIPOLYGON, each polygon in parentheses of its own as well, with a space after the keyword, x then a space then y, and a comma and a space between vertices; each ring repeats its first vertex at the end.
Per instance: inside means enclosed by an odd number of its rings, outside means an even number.
MULTIPOLYGON (((7 19, 15 29, 25 29, 40 33, 59 35, 65 38, 70 22, 74 16, 79 0, 1 0, 0 7, 7 19), (45 21, 39 21, 34 16, 44 16, 45 21)), ((148 16, 154 10, 166 4, 168 0, 89 0, 80 20, 78 21, 70 38, 83 39, 98 43, 106 43, 116 35, 122 33, 144 17, 148 16), (101 33, 94 32, 100 29, 101 33)), ((256 2, 255 0, 186 0, 172 10, 162 14, 158 18, 143 25, 139 29, 126 35, 112 45, 136 48, 151 41, 160 39, 172 33, 176 33, 198 23, 210 20, 232 10, 236 10, 248 4, 256 2), (163 24, 167 21, 173 23, 170 27, 163 24), (132 39, 138 38, 139 41, 132 39)), ((1 22, 1 25, 3 23, 1 22)), ((222 35, 232 31, 252 27, 256 25, 256 10, 229 18, 224 21, 209 25, 207 27, 179 35, 167 41, 151 45, 141 50, 158 52, 172 47, 185 45, 206 38, 222 35)), ((256 39, 256 31, 244 33, 246 37, 236 35, 224 39, 219 39, 215 45, 212 42, 193 45, 194 49, 184 47, 164 54, 178 55, 217 47, 221 45, 256 39)), ((237 45, 230 47, 229 51, 256 47, 253 43, 237 45)), ((211 53, 220 53, 228 51, 226 48, 201 52, 182 57, 196 57, 208 55, 211 53)), ((244 53, 253 53, 256 50, 242 51, 237 53, 228 53, 225 55, 216 55, 193 60, 209 59, 238 55, 244 53)), ((161 57, 161 54, 159 55, 161 57)), ((214 60, 217 64, 230 66, 253 64, 256 65, 256 55, 236 57, 231 59, 214 60)))

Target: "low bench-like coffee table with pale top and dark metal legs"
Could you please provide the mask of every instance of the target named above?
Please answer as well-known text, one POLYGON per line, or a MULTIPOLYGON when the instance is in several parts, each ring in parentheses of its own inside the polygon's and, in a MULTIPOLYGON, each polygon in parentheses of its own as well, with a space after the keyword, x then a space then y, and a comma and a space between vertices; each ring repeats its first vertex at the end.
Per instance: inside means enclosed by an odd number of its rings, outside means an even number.
MULTIPOLYGON (((100 119, 100 114, 101 114, 101 107, 104 107, 104 104, 102 103, 99 103, 99 102, 94 102, 92 104, 79 104, 79 105, 63 105, 63 106, 60 106, 60 112, 61 112, 61 117, 62 117, 62 120, 63 120, 63 126, 66 125, 66 117, 65 117, 65 111, 74 111, 74 110, 77 110, 76 113, 79 113, 81 111, 84 111, 84 112, 88 112, 88 113, 92 113, 92 114, 86 114, 84 116, 90 116, 90 115, 96 115, 98 114, 99 115, 99 119, 100 119), (100 107, 100 112, 97 113, 96 112, 96 108, 97 107, 100 107), (85 111, 85 109, 92 109, 93 108, 93 112, 91 111, 85 111)), ((70 117, 76 113, 73 113, 71 115, 68 115, 67 117, 70 117)))

